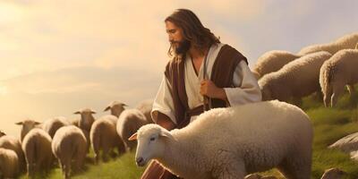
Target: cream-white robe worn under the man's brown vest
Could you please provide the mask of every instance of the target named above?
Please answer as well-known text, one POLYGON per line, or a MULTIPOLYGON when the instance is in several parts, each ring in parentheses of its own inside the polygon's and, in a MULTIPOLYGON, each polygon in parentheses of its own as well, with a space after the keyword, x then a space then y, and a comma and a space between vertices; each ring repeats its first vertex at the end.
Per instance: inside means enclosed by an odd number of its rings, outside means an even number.
MULTIPOLYGON (((206 63, 207 80, 211 75, 212 67, 217 58, 217 54, 223 46, 224 44, 217 44, 217 46, 214 45, 209 48, 206 63)), ((198 72, 199 75, 197 75, 192 64, 192 58, 187 55, 185 59, 185 90, 188 96, 188 106, 191 109, 203 105, 203 97, 200 95, 200 81, 203 80, 203 64, 204 63, 200 65, 200 71, 198 72)), ((234 107, 261 100, 261 91, 258 81, 253 76, 249 66, 243 60, 236 66, 233 84, 234 88, 224 88, 229 102, 229 104, 226 104, 227 106, 234 107)), ((163 75, 163 80, 160 83, 157 96, 154 99, 151 115, 153 117, 153 112, 158 111, 167 115, 175 124, 177 124, 173 98, 170 91, 171 85, 166 79, 166 75, 163 75)), ((197 116, 192 116, 191 122, 195 120, 196 117, 197 116)))

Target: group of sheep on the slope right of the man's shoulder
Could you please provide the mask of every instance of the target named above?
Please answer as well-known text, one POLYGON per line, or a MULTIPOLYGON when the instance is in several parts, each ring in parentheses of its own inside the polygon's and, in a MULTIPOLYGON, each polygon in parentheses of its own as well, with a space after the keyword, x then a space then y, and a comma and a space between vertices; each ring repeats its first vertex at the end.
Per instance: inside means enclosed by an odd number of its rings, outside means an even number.
POLYGON ((358 82, 358 33, 328 44, 304 47, 297 55, 269 51, 252 72, 259 80, 262 99, 301 104, 301 98, 320 91, 326 107, 334 107, 345 91, 358 82))

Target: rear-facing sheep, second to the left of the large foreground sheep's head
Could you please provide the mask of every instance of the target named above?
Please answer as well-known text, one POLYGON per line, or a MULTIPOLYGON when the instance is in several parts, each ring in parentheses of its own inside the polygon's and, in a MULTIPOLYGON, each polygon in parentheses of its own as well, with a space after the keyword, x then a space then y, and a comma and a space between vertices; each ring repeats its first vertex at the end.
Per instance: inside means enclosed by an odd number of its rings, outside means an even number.
POLYGON ((118 149, 118 154, 124 153, 124 142, 115 131, 115 123, 118 118, 115 115, 105 115, 96 120, 90 130, 90 141, 95 152, 96 163, 99 160, 99 152, 102 150, 102 159, 107 161, 109 152, 114 153, 118 149))

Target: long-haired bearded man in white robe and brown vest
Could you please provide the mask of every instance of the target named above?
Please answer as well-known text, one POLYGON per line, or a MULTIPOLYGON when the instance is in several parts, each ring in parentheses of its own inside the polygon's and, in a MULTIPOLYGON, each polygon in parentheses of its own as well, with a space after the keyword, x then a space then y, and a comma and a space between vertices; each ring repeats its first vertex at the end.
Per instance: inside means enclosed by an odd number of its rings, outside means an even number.
MULTIPOLYGON (((170 41, 163 81, 154 100, 152 117, 167 130, 183 128, 200 113, 215 107, 234 107, 261 100, 260 88, 246 58, 221 44, 190 10, 178 9, 165 20, 170 41)), ((143 179, 177 178, 157 162, 143 179)))

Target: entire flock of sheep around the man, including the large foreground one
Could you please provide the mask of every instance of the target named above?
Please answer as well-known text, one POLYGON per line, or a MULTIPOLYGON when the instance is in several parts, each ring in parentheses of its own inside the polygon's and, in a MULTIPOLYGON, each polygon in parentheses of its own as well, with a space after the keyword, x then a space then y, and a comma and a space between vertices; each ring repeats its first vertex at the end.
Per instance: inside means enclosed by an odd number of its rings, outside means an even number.
MULTIPOLYGON (((345 86, 352 92, 358 82, 357 48, 354 33, 304 47, 297 55, 269 51, 252 70, 264 101, 209 110, 181 130, 169 132, 152 124, 151 100, 132 109, 114 101, 105 108, 111 115, 98 119, 86 108, 74 113, 81 115, 79 120, 55 117, 42 124, 16 123, 22 126, 21 139, 0 132, 1 173, 14 177, 27 171, 32 176, 54 166, 57 158, 68 178, 71 171, 81 170, 91 147, 95 163, 137 149, 138 166, 157 159, 184 178, 260 178, 247 174, 277 167, 286 178, 308 179, 311 122, 301 108, 286 102, 299 105, 301 98, 322 92, 325 106, 335 106, 345 86)), ((331 169, 322 178, 341 174, 331 169)))

